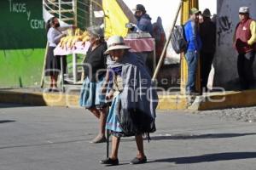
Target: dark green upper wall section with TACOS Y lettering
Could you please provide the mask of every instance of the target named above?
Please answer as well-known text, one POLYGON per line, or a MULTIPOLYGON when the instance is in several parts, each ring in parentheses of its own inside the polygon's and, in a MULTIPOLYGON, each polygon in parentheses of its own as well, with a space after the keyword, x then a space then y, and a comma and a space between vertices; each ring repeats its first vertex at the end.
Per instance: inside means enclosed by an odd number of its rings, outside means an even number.
POLYGON ((0 49, 45 47, 42 0, 1 0, 0 11, 0 49))

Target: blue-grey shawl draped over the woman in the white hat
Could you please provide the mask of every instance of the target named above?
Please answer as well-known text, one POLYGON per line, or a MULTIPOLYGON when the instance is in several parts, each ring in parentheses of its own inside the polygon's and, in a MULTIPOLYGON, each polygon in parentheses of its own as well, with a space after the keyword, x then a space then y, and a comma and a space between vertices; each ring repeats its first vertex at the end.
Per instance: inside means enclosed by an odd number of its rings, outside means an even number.
POLYGON ((120 109, 123 111, 133 110, 154 119, 158 96, 143 60, 136 54, 127 51, 119 62, 114 62, 108 56, 107 65, 108 68, 122 65, 121 77, 124 89, 119 94, 120 109))

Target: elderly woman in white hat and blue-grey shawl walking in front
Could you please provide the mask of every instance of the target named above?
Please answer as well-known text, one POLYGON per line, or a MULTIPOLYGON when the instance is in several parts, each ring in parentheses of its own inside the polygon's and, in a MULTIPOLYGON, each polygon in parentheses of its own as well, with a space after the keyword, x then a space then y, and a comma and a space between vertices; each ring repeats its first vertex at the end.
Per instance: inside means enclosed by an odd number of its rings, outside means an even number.
POLYGON ((108 39, 108 71, 102 93, 106 93, 108 87, 107 98, 113 99, 106 124, 113 138, 111 156, 100 161, 102 164, 119 164, 119 141, 126 136, 135 136, 137 143, 137 156, 130 163, 145 163, 143 133, 155 131, 157 94, 143 60, 131 54, 129 48, 122 37, 108 39))

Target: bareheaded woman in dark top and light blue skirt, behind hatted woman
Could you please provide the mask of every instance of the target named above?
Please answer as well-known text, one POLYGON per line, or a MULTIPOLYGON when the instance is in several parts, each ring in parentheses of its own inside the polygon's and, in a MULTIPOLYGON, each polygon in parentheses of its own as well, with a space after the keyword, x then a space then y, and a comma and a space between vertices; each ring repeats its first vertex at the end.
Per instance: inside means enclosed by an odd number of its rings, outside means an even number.
POLYGON ((99 119, 99 133, 90 143, 106 142, 105 124, 107 119, 106 103, 100 93, 106 74, 107 43, 104 41, 100 26, 90 26, 87 31, 90 36, 90 48, 84 59, 85 80, 80 94, 80 105, 92 112, 99 119))

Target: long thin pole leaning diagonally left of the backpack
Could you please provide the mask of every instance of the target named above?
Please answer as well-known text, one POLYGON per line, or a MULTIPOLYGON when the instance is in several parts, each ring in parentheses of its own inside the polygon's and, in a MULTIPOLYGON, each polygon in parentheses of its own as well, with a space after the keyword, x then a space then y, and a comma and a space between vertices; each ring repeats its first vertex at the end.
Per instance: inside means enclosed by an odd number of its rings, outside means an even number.
POLYGON ((164 61, 164 56, 165 56, 165 53, 166 53, 166 48, 168 47, 169 42, 170 42, 170 40, 171 40, 172 31, 173 31, 173 28, 174 28, 174 26, 175 26, 175 24, 176 24, 177 16, 178 16, 178 14, 179 14, 179 11, 180 11, 180 9, 182 8, 183 1, 186 1, 186 0, 181 0, 180 3, 179 3, 179 5, 178 5, 177 13, 176 13, 175 19, 173 20, 173 23, 172 23, 172 29, 171 29, 171 31, 170 31, 170 35, 169 35, 169 37, 168 37, 168 39, 167 39, 167 41, 166 41, 165 47, 164 47, 164 49, 163 49, 163 51, 162 51, 162 54, 161 54, 161 56, 160 56, 160 60, 159 60, 157 66, 156 66, 156 69, 155 69, 155 71, 154 71, 154 76, 152 77, 152 81, 153 81, 153 82, 156 80, 156 77, 157 77, 157 75, 158 75, 158 73, 159 73, 159 71, 160 71, 160 67, 161 67, 161 65, 162 65, 162 63, 163 63, 163 61, 164 61))

